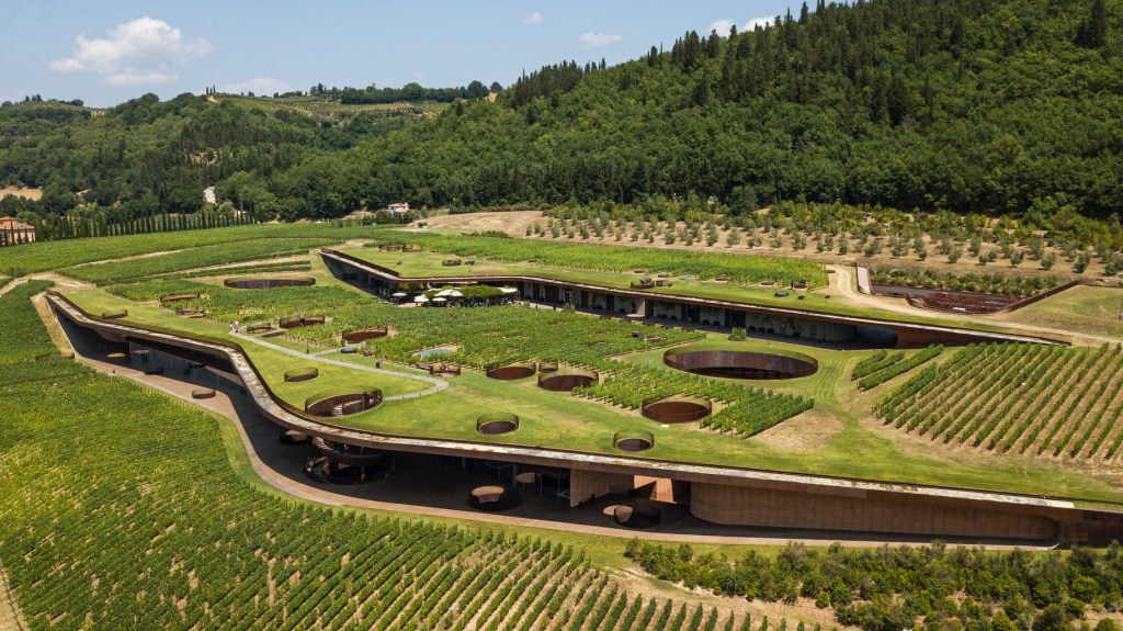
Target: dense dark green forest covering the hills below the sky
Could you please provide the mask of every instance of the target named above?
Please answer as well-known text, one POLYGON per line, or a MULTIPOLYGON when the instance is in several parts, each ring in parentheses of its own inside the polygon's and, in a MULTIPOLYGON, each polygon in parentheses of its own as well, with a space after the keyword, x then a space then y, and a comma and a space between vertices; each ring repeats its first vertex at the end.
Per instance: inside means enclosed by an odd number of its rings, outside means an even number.
POLYGON ((734 213, 794 200, 1020 216, 1057 199, 1108 219, 1123 208, 1121 9, 820 0, 617 66, 547 66, 493 100, 473 85, 417 121, 326 122, 221 95, 9 104, 0 185, 43 199, 7 198, 0 213, 191 212, 214 185, 220 202, 285 219, 652 195, 734 213))

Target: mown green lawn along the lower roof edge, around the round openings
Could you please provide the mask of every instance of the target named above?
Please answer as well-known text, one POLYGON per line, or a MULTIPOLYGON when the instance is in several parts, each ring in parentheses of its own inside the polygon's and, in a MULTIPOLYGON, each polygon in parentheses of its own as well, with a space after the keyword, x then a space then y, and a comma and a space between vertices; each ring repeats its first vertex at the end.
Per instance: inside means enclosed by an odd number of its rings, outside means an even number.
MULTIPOLYGON (((174 316, 153 303, 134 303, 101 290, 67 294, 91 313, 106 310, 129 310, 122 323, 174 328, 185 335, 228 337, 226 324, 174 316)), ((274 338, 274 341, 280 338, 274 338)), ((764 469, 812 473, 822 475, 873 478, 910 484, 935 484, 993 491, 1070 496, 1086 501, 1123 501, 1123 493, 1106 482, 1040 461, 1012 457, 995 458, 986 466, 956 461, 953 454, 921 452, 903 448, 886 435, 866 429, 861 420, 869 414, 873 396, 892 387, 889 382, 870 393, 860 393, 849 381, 853 363, 867 354, 862 351, 832 351, 795 345, 760 341, 730 342, 711 336, 697 342, 702 347, 738 347, 749 349, 794 350, 812 355, 820 362, 816 375, 786 383, 754 383, 778 392, 815 397, 816 411, 842 421, 841 430, 829 438, 824 446, 807 450, 772 447, 757 438, 742 439, 733 435, 719 435, 693 426, 659 427, 637 412, 609 406, 572 394, 544 391, 535 379, 500 382, 481 373, 466 371, 450 378, 446 391, 407 401, 385 402, 374 410, 347 417, 346 424, 374 431, 484 440, 475 431, 475 421, 484 412, 510 412, 520 417, 520 429, 511 435, 491 437, 494 442, 544 446, 614 454, 612 433, 618 430, 646 429, 656 437, 656 447, 646 456, 668 460, 732 465, 764 469)), ((271 387, 290 402, 302 404, 303 397, 329 385, 354 383, 375 385, 393 394, 428 387, 420 382, 373 375, 343 367, 330 367, 323 375, 303 384, 283 384, 277 376, 285 369, 307 366, 302 357, 255 348, 243 344, 250 359, 266 375, 271 387), (354 374, 349 374, 354 373, 354 374), (329 384, 329 382, 331 382, 329 384), (400 390, 399 390, 400 388, 400 390)), ((294 346, 287 342, 286 346, 294 346)), ((661 363, 661 350, 641 353, 623 360, 648 365, 661 363)), ((373 363, 371 358, 348 357, 349 362, 373 363)), ((318 367, 326 367, 318 366, 318 367)), ((905 378, 898 377, 900 378, 905 378)), ((786 421, 806 422, 803 417, 786 421)))

